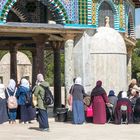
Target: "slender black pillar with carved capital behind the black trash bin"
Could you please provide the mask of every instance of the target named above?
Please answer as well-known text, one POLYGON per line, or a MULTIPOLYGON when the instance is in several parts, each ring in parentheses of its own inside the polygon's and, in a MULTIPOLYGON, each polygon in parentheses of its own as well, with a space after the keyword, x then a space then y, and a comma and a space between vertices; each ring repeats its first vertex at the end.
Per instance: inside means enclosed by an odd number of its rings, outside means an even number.
POLYGON ((54 112, 61 107, 61 56, 60 48, 63 43, 60 41, 51 42, 54 52, 54 112))

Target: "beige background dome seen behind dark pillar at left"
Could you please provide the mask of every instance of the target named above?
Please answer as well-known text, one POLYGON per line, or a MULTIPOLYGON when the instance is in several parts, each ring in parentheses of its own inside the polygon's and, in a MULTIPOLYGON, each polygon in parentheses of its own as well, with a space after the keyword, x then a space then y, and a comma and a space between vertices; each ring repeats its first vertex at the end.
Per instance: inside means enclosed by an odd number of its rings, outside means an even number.
MULTIPOLYGON (((5 54, 1 59, 1 64, 10 64, 10 53, 5 54)), ((17 64, 31 64, 29 58, 22 52, 17 52, 17 64)))

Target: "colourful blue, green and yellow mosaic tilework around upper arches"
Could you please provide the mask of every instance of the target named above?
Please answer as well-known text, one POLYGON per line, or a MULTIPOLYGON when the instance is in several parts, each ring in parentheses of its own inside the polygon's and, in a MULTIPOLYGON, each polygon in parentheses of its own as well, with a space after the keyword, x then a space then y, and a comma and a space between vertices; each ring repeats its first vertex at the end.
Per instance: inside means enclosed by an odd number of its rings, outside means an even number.
MULTIPOLYGON (((135 6, 132 0, 36 0, 46 5, 58 23, 75 27, 98 27, 101 4, 106 1, 114 12, 114 28, 125 31, 128 28, 129 13, 135 26, 135 6)), ((0 23, 6 22, 8 12, 17 0, 0 0, 0 23)))

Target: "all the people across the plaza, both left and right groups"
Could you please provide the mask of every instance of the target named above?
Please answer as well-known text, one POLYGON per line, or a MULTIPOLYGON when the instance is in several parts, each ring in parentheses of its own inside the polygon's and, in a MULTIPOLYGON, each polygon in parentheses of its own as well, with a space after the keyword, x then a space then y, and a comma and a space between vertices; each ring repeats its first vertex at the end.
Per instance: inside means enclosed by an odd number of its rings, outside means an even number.
MULTIPOLYGON (((105 124, 108 120, 108 113, 112 121, 116 124, 121 124, 122 119, 124 119, 122 118, 124 112, 127 123, 133 121, 139 123, 140 88, 134 81, 132 80, 129 85, 128 92, 121 91, 118 96, 115 95, 113 90, 110 90, 107 96, 106 91, 102 87, 102 81, 97 81, 91 94, 87 95, 82 86, 82 79, 80 77, 75 78, 69 92, 69 104, 72 109, 73 118, 72 123, 83 124, 87 117, 85 114, 88 107, 92 108, 93 116, 91 117, 94 124, 105 124), (83 100, 86 97, 90 99, 88 104, 83 100)), ((42 131, 49 131, 47 105, 43 102, 45 94, 43 87, 49 87, 49 84, 44 80, 42 74, 37 75, 36 85, 33 88, 31 88, 26 78, 22 78, 18 86, 14 79, 9 80, 6 88, 0 83, 0 124, 6 121, 14 124, 17 117, 21 123, 31 123, 32 120, 37 118, 39 128, 42 131), (13 100, 17 104, 9 105, 10 97, 15 97, 13 100), (32 104, 33 97, 37 102, 35 108, 32 104), (36 111, 38 111, 38 117, 36 117, 36 111)))

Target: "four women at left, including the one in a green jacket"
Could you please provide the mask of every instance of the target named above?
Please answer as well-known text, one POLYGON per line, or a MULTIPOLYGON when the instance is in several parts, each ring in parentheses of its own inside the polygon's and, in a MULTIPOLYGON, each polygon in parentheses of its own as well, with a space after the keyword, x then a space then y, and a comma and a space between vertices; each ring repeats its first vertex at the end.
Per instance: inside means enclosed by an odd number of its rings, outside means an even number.
POLYGON ((23 124, 31 123, 32 120, 37 119, 39 128, 42 131, 48 131, 47 106, 43 103, 45 91, 41 85, 49 86, 42 74, 37 75, 36 85, 33 89, 29 80, 24 77, 18 86, 14 79, 9 80, 7 87, 0 83, 0 124, 7 121, 14 124, 16 118, 20 119, 20 123, 23 124), (37 101, 36 107, 33 107, 33 95, 37 101), (37 111, 38 117, 36 118, 37 111))

